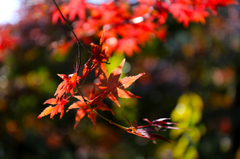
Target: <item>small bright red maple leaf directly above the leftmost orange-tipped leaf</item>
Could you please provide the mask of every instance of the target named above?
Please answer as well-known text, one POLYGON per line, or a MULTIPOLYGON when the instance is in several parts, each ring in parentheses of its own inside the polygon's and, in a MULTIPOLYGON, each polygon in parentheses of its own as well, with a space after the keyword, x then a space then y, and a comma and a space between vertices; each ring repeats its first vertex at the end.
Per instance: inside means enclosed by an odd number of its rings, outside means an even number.
POLYGON ((74 96, 73 88, 80 79, 80 77, 77 76, 77 73, 71 75, 58 74, 58 76, 61 77, 63 81, 58 85, 54 96, 60 98, 64 93, 71 93, 71 95, 74 96))

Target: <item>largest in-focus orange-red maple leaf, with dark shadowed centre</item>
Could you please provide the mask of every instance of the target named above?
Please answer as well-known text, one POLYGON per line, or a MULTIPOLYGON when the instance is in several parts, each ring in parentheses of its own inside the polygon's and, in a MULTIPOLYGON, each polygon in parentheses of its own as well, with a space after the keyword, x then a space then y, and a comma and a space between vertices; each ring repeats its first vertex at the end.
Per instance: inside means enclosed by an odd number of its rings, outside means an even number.
MULTIPOLYGON (((131 92, 124 90, 128 88, 133 82, 135 82, 139 77, 144 75, 144 73, 140 73, 136 76, 124 77, 119 80, 122 74, 122 68, 125 63, 125 59, 121 62, 121 64, 113 70, 107 79, 107 74, 102 72, 99 75, 100 84, 93 83, 98 89, 103 92, 102 99, 108 96, 113 102, 115 102, 119 107, 120 104, 117 100, 117 97, 121 98, 140 98, 139 96, 135 96, 131 92)), ((99 99, 98 99, 99 100, 99 99)))

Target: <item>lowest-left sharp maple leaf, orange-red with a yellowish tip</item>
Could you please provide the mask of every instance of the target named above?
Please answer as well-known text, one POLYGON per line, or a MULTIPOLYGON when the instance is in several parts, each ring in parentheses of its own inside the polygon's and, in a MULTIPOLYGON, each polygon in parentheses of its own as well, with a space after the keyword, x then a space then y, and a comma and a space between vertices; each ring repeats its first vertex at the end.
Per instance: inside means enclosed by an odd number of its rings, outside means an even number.
POLYGON ((60 115, 60 119, 61 119, 63 116, 63 113, 64 113, 64 105, 67 104, 67 102, 69 102, 69 100, 64 99, 64 98, 65 98, 65 96, 63 96, 62 99, 57 97, 57 99, 51 98, 51 99, 46 100, 44 102, 44 104, 52 104, 52 105, 56 105, 56 106, 54 106, 54 107, 49 106, 49 107, 45 108, 41 112, 41 114, 38 116, 38 118, 42 118, 48 114, 51 114, 50 118, 52 119, 54 115, 56 115, 57 113, 61 113, 61 115, 60 115))

